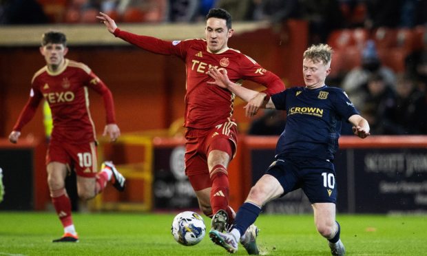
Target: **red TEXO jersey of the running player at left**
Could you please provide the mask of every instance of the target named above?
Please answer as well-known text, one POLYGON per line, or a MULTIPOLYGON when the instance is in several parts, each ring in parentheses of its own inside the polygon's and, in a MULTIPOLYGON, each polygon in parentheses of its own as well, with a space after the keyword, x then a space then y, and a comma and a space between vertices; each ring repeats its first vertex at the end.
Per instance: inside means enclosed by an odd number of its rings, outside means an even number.
POLYGON ((52 140, 72 144, 94 141, 96 131, 89 111, 88 87, 103 96, 107 124, 114 123, 114 103, 110 89, 87 65, 65 59, 65 65, 56 72, 51 72, 45 66, 34 74, 30 99, 13 130, 21 131, 45 98, 52 110, 52 140))

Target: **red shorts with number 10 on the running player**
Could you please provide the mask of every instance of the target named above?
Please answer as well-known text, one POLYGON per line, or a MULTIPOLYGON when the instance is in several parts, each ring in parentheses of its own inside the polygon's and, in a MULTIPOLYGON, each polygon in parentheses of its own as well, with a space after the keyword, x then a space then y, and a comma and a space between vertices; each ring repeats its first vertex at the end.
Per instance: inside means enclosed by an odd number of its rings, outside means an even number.
POLYGON ((46 164, 61 162, 68 169, 74 169, 76 174, 86 178, 93 178, 98 171, 98 158, 95 142, 73 145, 51 140, 46 154, 46 164))

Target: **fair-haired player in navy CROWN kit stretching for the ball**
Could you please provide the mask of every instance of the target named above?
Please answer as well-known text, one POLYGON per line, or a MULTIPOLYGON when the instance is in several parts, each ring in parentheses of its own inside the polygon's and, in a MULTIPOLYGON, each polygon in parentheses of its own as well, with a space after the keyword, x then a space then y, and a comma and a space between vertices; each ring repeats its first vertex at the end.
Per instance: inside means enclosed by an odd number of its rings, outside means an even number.
MULTIPOLYGON (((255 222, 264 204, 301 188, 313 206, 317 231, 328 239, 332 255, 345 254, 340 224, 335 220, 337 184, 333 158, 338 149, 340 120, 350 122, 353 133, 360 138, 370 134, 368 122, 342 89, 325 85, 331 72, 331 56, 329 45, 312 45, 303 55, 305 87, 292 87, 271 97, 264 95, 262 107, 286 110, 287 124, 278 140, 274 162, 240 206, 231 231, 209 232, 212 241, 229 253, 236 253, 237 241, 255 222)), ((227 72, 216 67, 211 67, 208 74, 215 79, 208 83, 229 89, 245 101, 258 93, 231 82, 227 72)), ((253 116, 253 107, 247 106, 246 114, 253 116)))

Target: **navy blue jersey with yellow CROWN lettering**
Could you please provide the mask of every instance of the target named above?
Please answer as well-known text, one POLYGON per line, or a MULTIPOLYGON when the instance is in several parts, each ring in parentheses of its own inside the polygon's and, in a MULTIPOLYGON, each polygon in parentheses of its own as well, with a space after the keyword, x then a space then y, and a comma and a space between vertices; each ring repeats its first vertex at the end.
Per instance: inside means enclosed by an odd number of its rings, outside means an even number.
POLYGON ((287 111, 287 124, 276 145, 276 157, 332 160, 338 149, 341 120, 359 114, 336 87, 292 87, 271 96, 276 109, 287 111))

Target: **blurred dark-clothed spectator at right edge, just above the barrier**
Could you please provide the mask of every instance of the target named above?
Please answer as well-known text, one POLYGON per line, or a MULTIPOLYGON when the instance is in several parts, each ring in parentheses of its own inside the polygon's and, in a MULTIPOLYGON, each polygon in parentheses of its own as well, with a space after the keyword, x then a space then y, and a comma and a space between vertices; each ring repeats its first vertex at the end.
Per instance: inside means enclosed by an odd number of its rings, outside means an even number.
POLYGON ((396 83, 396 104, 391 114, 389 129, 393 134, 427 134, 426 100, 419 91, 415 78, 410 74, 399 74, 396 83))

